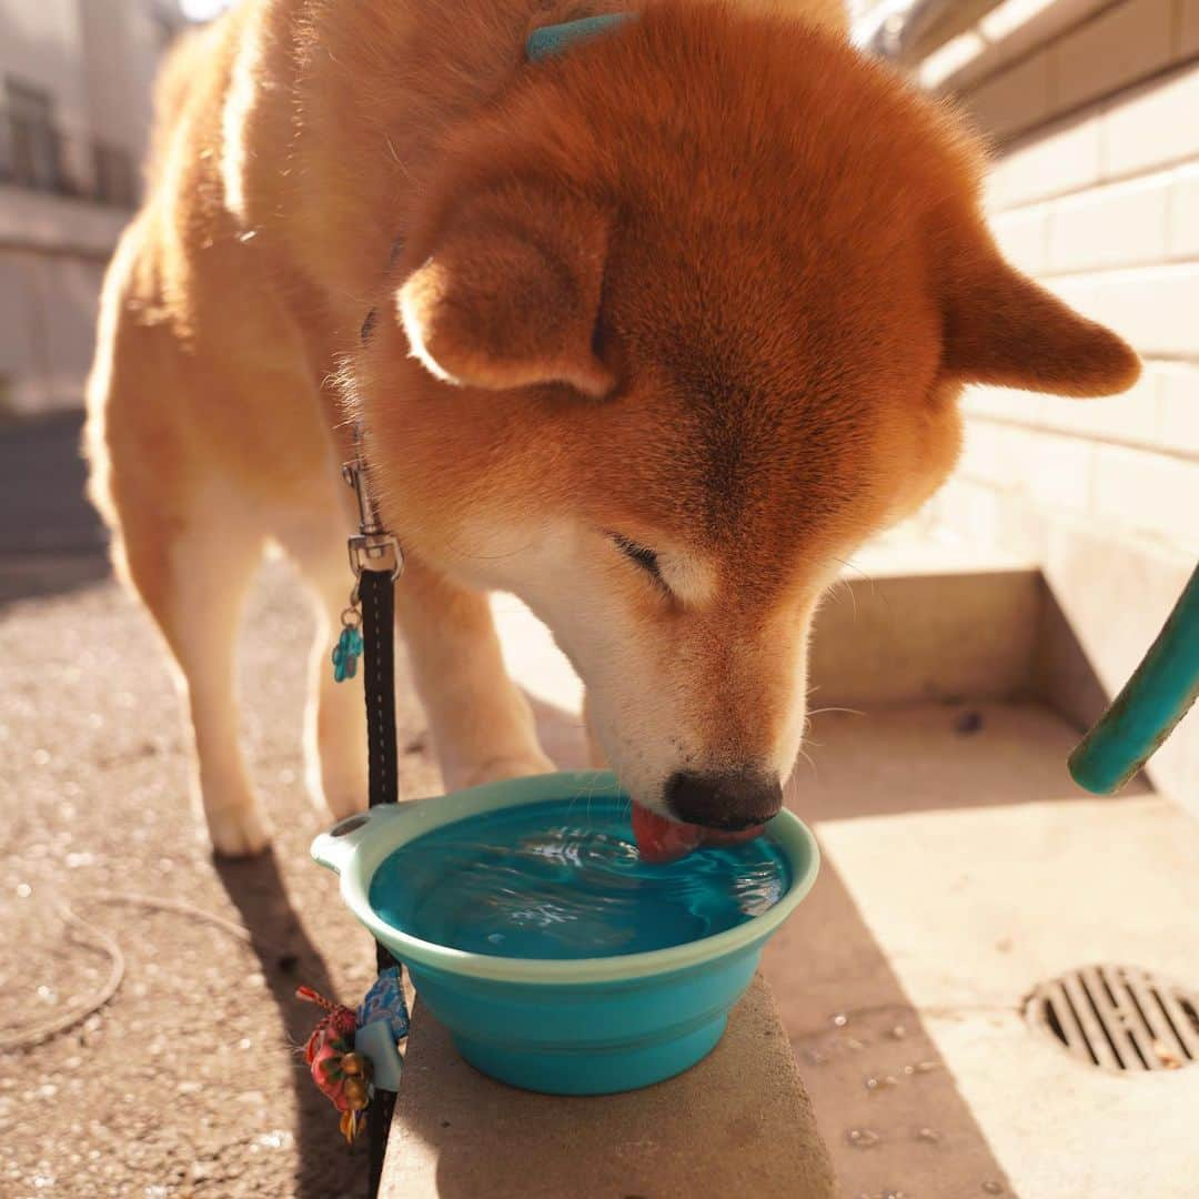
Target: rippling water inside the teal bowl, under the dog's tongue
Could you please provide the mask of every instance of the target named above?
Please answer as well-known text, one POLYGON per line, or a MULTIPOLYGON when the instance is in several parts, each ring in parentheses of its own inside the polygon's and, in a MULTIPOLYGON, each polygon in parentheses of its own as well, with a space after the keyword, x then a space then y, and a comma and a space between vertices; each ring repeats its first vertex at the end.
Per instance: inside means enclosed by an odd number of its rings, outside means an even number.
POLYGON ((683 945, 761 915, 790 885, 769 836, 656 866, 628 803, 555 800, 446 825, 397 849, 370 906, 436 945, 513 958, 594 958, 683 945))

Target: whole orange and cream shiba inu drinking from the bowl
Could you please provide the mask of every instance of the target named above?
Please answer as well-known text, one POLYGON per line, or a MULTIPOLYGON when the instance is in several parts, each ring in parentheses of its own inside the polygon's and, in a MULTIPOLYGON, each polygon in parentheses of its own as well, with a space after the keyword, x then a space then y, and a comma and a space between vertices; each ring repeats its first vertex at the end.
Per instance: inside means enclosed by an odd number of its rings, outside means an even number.
POLYGON ((484 596, 506 589, 637 805, 735 831, 782 802, 821 594, 945 478, 962 386, 1138 374, 1001 259, 974 141, 829 0, 245 0, 158 108, 88 446, 224 854, 269 836, 233 693, 267 542, 324 614, 313 788, 364 802, 361 691, 327 669, 348 412, 448 785, 549 767, 484 596), (536 30, 616 12, 530 60, 536 30))

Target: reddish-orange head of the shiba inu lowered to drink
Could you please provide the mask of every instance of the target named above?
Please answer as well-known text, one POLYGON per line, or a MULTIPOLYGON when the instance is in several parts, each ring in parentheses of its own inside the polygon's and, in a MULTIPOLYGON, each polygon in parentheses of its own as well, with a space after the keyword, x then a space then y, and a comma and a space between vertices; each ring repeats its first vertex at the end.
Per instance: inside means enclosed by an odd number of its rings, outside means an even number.
POLYGON ((355 387, 394 526, 547 621, 635 800, 719 827, 778 809, 815 605, 950 471, 962 385, 1138 373, 1000 258, 947 114, 719 10, 525 68, 390 287, 355 387))

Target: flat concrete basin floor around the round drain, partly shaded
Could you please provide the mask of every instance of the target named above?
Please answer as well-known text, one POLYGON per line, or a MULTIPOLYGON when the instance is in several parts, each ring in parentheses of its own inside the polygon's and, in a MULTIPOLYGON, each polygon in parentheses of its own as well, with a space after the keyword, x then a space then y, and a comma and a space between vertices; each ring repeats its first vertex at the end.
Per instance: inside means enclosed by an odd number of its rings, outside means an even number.
POLYGON ((1199 1066, 1108 1074, 1022 1016, 1089 964, 1199 986, 1199 825, 1143 784, 1085 796, 1076 741, 1036 704, 815 718, 789 803, 821 878, 764 972, 844 1194, 1193 1193, 1199 1066))

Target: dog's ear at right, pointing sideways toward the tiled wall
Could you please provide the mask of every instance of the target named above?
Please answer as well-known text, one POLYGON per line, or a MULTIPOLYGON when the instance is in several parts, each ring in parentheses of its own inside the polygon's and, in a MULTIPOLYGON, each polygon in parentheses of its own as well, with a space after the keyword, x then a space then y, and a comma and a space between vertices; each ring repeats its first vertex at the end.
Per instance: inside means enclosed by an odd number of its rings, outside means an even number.
POLYGON ((950 376, 1059 396, 1110 396, 1137 381, 1140 360, 1121 338, 1010 266, 981 227, 941 275, 950 376))

